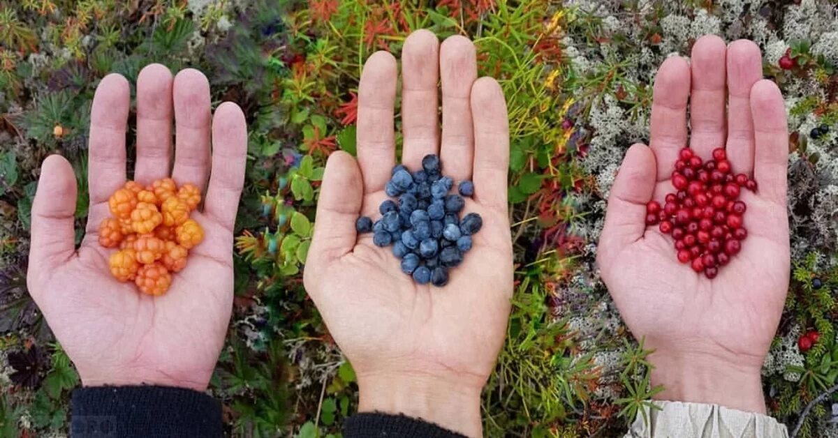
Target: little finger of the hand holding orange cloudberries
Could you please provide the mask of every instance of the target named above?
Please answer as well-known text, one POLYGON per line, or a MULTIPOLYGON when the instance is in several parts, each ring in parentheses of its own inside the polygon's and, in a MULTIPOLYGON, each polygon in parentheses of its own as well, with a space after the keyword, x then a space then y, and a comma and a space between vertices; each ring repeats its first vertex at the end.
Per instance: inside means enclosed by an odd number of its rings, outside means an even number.
POLYGON ((225 102, 215 110, 212 144, 212 173, 204 214, 232 234, 247 162, 247 122, 235 103, 225 102))

